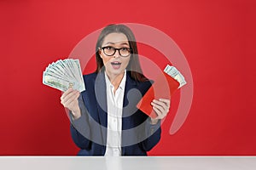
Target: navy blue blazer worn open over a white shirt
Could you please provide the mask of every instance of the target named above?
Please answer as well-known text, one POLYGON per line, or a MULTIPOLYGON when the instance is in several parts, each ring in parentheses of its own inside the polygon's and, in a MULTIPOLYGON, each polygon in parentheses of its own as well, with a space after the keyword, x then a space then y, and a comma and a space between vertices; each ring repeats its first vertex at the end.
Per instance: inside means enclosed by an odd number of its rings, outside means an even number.
MULTIPOLYGON (((79 156, 104 156, 107 144, 108 107, 104 73, 84 76, 86 90, 79 96, 82 116, 73 120, 71 134, 79 146, 79 156)), ((152 82, 136 82, 127 71, 123 102, 121 153, 122 156, 147 156, 160 141, 160 121, 149 123, 149 117, 136 105, 148 91, 152 82)), ((148 105, 149 107, 149 105, 148 105)))

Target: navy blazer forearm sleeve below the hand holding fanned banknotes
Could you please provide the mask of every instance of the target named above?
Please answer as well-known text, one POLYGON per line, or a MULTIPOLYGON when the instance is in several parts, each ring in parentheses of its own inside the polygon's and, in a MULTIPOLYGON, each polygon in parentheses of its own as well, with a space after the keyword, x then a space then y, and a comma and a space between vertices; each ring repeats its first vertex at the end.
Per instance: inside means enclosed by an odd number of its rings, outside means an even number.
POLYGON ((73 115, 70 111, 70 131, 72 135, 73 142, 83 150, 90 150, 90 123, 88 111, 85 108, 82 95, 79 96, 79 108, 81 111, 81 116, 78 119, 73 119, 73 115))

